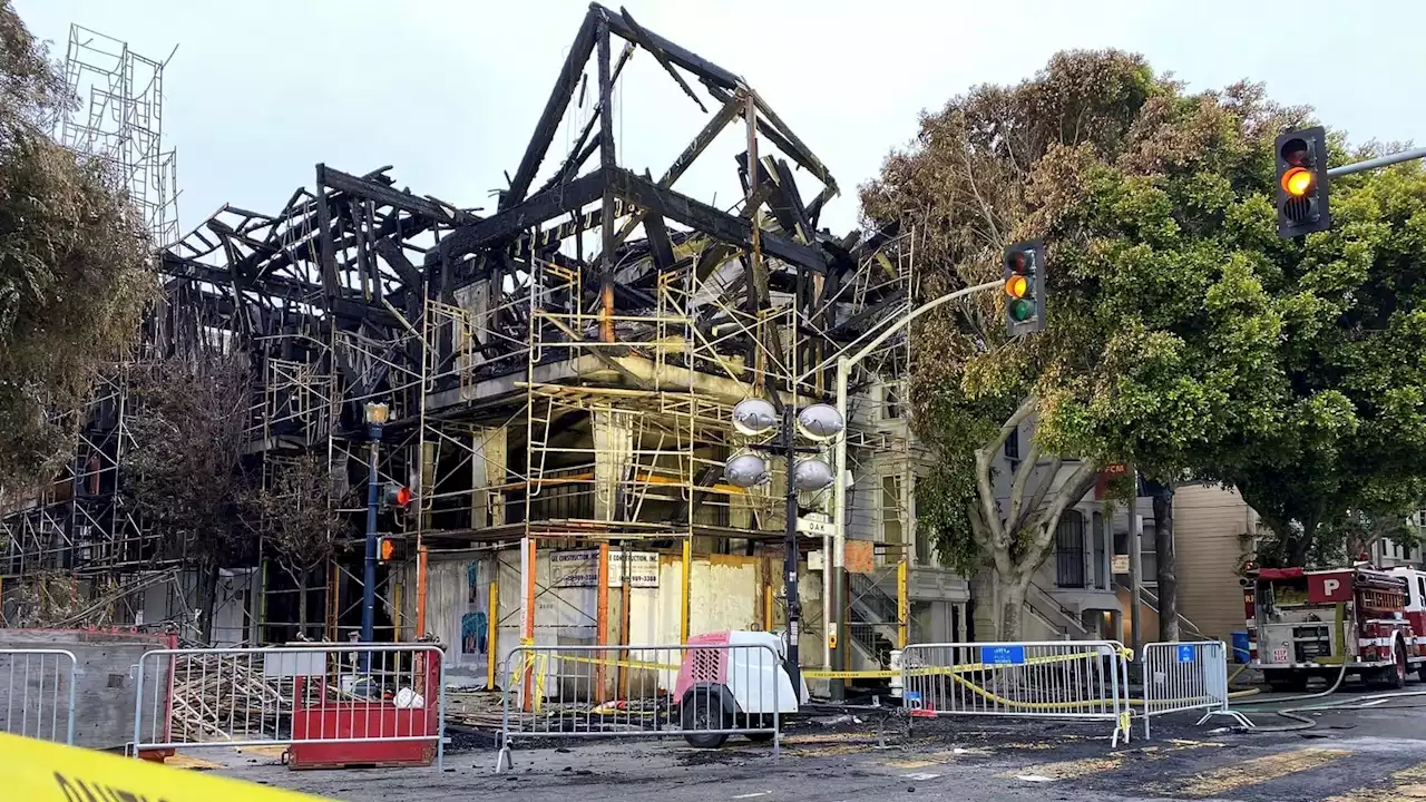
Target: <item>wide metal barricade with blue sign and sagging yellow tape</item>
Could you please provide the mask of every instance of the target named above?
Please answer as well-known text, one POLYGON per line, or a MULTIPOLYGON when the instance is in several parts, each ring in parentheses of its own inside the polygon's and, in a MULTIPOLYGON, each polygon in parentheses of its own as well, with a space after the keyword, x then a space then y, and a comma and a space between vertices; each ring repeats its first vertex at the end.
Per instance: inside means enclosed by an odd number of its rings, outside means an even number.
POLYGON ((903 701, 915 718, 1034 716, 1114 722, 1129 739, 1128 649, 1118 641, 911 644, 903 701))

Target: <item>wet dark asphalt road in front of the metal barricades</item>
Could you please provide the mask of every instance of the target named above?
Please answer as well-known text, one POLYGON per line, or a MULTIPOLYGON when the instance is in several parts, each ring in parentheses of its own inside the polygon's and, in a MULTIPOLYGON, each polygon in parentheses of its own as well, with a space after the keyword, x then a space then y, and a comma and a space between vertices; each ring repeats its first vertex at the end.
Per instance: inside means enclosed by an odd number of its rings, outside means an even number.
MULTIPOLYGON (((1412 686, 1420 688, 1417 685, 1412 686)), ((1271 699, 1266 698, 1266 699, 1271 699)), ((279 749, 195 751, 218 773, 334 799, 509 799, 520 802, 843 802, 1224 799, 1238 802, 1426 801, 1426 696, 1365 711, 1309 714, 1296 732, 1215 732, 1195 718, 1155 719, 1111 749, 1104 724, 918 721, 878 749, 873 731, 829 732, 804 724, 770 745, 733 739, 717 751, 682 741, 575 742, 523 749, 513 771, 493 773, 495 752, 455 751, 445 771, 294 772, 279 749)), ((1272 715, 1263 726, 1295 725, 1272 715)), ((1226 722, 1224 722, 1226 724, 1226 722)))

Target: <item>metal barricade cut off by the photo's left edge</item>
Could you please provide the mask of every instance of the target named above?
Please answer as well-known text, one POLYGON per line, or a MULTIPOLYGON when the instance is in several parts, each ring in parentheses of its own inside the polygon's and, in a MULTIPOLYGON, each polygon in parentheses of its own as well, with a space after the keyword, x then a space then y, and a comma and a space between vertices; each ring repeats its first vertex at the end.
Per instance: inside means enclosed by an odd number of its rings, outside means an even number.
POLYGON ((74 652, 0 649, 0 732, 74 743, 74 652))

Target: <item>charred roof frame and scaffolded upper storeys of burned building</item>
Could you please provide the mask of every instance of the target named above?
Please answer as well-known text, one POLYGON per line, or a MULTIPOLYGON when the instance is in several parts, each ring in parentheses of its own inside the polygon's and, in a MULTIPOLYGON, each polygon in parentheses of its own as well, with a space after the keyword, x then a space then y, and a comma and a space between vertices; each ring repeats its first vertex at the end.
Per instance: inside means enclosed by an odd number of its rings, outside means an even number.
MULTIPOLYGON (((908 234, 820 230, 840 187, 813 150, 743 78, 623 10, 589 7, 493 213, 391 173, 318 164, 275 214, 227 205, 165 247, 138 358, 250 354, 248 451, 264 475, 321 454, 362 484, 364 408, 388 404, 378 471, 414 489, 415 511, 382 528, 432 549, 753 554, 781 535, 786 479, 720 484, 739 445, 733 404, 826 400, 836 355, 911 295, 908 234), (640 50, 707 116, 657 178, 620 164, 615 136, 615 90, 640 50), (562 124, 572 146, 550 153, 562 124), (740 201, 683 194, 680 177, 734 126, 740 201)), ((904 341, 886 358, 868 374, 896 374, 904 341)), ((3 518, 7 575, 154 568, 154 537, 118 492, 125 392, 123 371, 103 384, 67 489, 3 518)), ((853 457, 900 458, 910 475, 904 432, 866 420, 863 404, 853 457)), ((876 481, 860 502, 887 507, 876 481)), ((897 487, 904 517, 908 482, 897 487)), ((365 509, 348 494, 334 504, 365 509)), ((352 551, 328 572, 331 636, 355 625, 359 562, 352 551)))

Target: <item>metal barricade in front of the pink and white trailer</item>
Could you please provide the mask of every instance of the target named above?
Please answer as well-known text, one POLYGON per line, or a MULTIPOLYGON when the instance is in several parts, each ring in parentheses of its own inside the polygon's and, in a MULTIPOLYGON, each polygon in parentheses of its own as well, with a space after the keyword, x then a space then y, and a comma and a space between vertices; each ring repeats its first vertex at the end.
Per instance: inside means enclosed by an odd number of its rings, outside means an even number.
POLYGON ((495 771, 525 739, 680 736, 717 748, 730 735, 781 751, 781 715, 799 694, 770 644, 518 646, 501 669, 503 716, 495 771))

